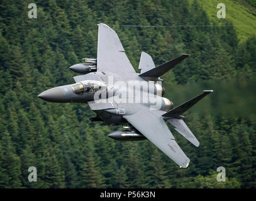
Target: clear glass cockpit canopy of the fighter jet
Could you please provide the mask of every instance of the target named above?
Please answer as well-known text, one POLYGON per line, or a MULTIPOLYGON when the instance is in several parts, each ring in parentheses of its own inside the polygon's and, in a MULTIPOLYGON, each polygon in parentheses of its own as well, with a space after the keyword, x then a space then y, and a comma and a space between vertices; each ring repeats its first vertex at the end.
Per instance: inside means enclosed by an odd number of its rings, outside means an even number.
POLYGON ((95 93, 97 90, 106 90, 107 87, 103 82, 97 80, 84 80, 82 82, 77 82, 72 84, 75 94, 85 94, 85 93, 95 93))

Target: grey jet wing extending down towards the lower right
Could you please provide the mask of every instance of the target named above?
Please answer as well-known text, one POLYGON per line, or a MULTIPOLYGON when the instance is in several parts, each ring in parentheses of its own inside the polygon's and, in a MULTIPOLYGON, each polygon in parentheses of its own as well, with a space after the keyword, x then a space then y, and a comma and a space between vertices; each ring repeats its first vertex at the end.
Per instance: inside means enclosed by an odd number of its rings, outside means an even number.
POLYGON ((190 160, 176 143, 159 112, 143 108, 123 117, 177 165, 187 168, 190 160))

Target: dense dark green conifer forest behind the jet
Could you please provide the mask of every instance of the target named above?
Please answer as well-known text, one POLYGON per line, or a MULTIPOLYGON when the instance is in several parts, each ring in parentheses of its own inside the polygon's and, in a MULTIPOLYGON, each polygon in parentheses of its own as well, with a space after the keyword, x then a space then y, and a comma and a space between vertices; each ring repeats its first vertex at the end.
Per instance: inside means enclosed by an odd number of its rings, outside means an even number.
POLYGON ((198 1, 41 0, 36 19, 28 18, 30 3, 0 3, 0 188, 256 187, 255 33, 240 40, 228 19, 218 22, 228 26, 178 26, 215 24, 198 1), (142 51, 156 65, 191 55, 161 77, 175 106, 214 90, 186 112, 198 148, 169 125, 191 159, 187 169, 149 141, 108 138, 120 127, 91 122, 86 104, 36 97, 74 83, 69 67, 97 57, 99 23, 118 33, 136 72, 142 51), (28 182, 30 166, 37 182, 28 182), (217 182, 218 166, 226 182, 217 182))

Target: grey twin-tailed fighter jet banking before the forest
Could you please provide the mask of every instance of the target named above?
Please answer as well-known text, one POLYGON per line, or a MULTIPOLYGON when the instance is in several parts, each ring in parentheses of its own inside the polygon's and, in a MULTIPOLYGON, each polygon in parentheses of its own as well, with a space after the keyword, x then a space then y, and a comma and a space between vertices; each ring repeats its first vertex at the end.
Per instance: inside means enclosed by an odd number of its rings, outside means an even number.
POLYGON ((122 125, 125 130, 108 136, 117 140, 150 140, 181 168, 187 168, 185 155, 165 121, 195 146, 199 146, 182 114, 213 90, 173 108, 173 103, 162 97, 161 75, 172 69, 189 55, 181 55, 155 67, 152 57, 142 52, 140 73, 136 73, 126 57, 118 35, 106 24, 98 24, 97 59, 83 58, 86 63, 72 65, 70 70, 84 75, 75 76, 75 84, 45 90, 38 95, 50 102, 84 102, 96 112, 91 121, 122 125))

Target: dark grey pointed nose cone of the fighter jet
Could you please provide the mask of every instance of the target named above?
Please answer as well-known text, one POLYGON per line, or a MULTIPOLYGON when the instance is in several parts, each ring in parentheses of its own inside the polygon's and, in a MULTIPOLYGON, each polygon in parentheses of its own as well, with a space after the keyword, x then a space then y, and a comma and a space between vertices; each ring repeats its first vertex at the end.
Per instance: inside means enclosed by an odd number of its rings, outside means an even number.
POLYGON ((54 87, 52 89, 45 90, 37 97, 50 102, 62 102, 63 92, 62 89, 60 89, 60 87, 54 87))

